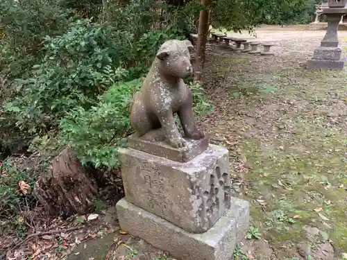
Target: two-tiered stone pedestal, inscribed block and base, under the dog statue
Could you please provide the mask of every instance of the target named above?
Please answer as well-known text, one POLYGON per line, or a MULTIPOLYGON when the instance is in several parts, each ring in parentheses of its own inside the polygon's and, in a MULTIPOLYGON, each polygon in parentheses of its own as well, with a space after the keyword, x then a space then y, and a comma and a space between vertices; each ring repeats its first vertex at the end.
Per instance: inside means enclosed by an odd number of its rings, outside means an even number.
POLYGON ((119 149, 121 229, 181 260, 230 259, 248 230, 249 204, 230 197, 228 150, 188 140, 191 159, 182 162, 174 148, 157 142, 145 149, 146 141, 130 139, 130 148, 119 149))

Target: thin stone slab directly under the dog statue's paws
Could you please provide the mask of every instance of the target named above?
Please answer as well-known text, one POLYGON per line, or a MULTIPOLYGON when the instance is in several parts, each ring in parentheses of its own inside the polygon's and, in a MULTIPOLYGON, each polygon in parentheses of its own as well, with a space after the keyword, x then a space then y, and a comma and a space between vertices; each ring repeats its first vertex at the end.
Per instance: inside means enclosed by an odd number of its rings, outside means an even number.
MULTIPOLYGON (((158 137, 159 134, 156 136, 158 137)), ((128 137, 128 146, 129 148, 141 150, 144 153, 157 155, 176 162, 188 162, 208 148, 207 136, 203 139, 194 140, 185 138, 183 134, 183 138, 185 139, 187 146, 180 149, 169 146, 164 142, 164 140, 147 141, 140 137, 136 137, 136 135, 128 137)))

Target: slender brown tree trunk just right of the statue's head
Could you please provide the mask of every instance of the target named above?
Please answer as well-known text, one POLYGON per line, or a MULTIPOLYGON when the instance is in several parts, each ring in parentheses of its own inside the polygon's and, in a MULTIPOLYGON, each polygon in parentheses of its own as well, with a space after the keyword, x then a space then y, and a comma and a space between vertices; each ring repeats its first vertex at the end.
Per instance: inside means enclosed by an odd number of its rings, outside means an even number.
POLYGON ((201 0, 205 10, 200 11, 198 18, 198 41, 196 44, 196 73, 195 80, 201 82, 205 64, 206 37, 208 35, 208 0, 201 0))

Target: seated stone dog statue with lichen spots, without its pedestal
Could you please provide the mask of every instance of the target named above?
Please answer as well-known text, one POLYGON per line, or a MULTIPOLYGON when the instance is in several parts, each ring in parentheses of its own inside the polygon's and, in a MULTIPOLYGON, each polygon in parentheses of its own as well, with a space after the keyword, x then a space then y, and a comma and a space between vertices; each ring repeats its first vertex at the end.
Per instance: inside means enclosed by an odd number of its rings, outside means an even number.
POLYGON ((185 137, 204 137, 203 132, 196 128, 192 92, 183 82, 183 78, 193 72, 189 54, 192 49, 189 40, 168 40, 160 46, 141 89, 133 96, 130 120, 138 137, 146 139, 151 130, 161 128, 165 141, 172 147, 187 146, 176 126, 176 113, 185 137))

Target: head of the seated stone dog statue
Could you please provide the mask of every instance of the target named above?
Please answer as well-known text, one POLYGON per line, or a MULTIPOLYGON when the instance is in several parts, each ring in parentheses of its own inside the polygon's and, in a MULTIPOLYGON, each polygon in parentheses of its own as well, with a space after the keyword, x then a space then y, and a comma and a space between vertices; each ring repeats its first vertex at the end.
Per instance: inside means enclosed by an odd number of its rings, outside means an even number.
POLYGON ((168 40, 156 56, 160 73, 178 78, 187 78, 193 73, 189 51, 194 49, 189 40, 168 40))

